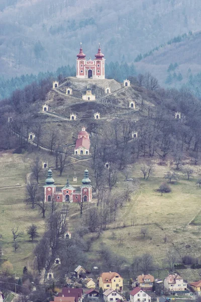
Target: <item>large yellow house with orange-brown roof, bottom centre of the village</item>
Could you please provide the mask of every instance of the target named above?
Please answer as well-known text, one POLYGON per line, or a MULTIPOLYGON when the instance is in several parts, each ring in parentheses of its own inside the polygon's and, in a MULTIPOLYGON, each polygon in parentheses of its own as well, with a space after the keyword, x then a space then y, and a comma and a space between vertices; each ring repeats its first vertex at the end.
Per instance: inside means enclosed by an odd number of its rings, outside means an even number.
POLYGON ((112 288, 117 291, 123 291, 123 278, 116 272, 102 273, 98 277, 98 286, 106 289, 112 288))

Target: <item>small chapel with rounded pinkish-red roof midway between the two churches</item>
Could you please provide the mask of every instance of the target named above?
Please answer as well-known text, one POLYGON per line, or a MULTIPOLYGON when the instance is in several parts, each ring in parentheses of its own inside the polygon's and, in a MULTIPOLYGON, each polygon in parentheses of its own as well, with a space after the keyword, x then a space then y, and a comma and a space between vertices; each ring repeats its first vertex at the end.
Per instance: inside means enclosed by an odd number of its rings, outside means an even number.
POLYGON ((74 148, 74 155, 89 155, 90 139, 85 127, 77 135, 77 140, 74 148))

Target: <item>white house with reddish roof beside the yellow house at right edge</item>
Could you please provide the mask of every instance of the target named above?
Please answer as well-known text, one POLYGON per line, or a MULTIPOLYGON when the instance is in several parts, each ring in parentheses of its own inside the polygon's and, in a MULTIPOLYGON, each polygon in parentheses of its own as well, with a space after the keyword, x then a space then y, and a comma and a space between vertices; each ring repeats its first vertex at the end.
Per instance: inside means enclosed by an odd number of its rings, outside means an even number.
POLYGON ((187 284, 183 282, 183 278, 176 274, 169 275, 164 279, 164 287, 170 292, 187 290, 187 284))

